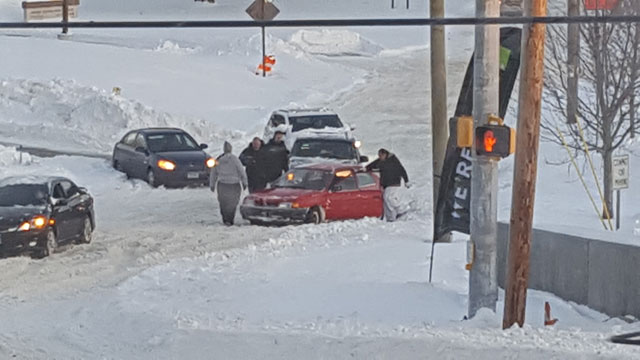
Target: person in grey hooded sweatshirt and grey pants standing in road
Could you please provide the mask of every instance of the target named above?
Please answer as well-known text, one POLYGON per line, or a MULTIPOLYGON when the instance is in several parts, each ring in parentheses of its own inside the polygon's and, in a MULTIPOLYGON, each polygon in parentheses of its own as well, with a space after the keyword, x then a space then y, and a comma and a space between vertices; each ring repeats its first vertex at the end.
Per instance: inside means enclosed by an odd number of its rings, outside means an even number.
POLYGON ((240 159, 231 153, 231 144, 225 141, 223 150, 224 153, 216 159, 216 166, 211 170, 209 187, 213 192, 218 190, 222 222, 233 225, 240 195, 247 188, 247 174, 240 159))

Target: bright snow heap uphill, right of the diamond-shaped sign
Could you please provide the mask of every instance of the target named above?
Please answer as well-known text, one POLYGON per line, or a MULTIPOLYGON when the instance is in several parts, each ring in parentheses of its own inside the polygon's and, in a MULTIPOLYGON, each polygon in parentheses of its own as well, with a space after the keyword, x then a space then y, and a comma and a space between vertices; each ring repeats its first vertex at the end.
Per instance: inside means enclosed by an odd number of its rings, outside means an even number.
POLYGON ((374 56, 382 51, 381 46, 348 30, 300 30, 290 43, 309 54, 326 56, 374 56))

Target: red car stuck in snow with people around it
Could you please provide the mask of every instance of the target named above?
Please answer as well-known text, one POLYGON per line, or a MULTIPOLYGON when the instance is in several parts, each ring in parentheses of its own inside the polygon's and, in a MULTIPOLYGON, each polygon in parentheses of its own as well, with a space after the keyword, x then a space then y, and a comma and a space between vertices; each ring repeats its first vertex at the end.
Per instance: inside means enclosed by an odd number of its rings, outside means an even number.
POLYGON ((379 218, 382 188, 378 176, 359 165, 308 165, 247 196, 240 213, 251 224, 379 218))

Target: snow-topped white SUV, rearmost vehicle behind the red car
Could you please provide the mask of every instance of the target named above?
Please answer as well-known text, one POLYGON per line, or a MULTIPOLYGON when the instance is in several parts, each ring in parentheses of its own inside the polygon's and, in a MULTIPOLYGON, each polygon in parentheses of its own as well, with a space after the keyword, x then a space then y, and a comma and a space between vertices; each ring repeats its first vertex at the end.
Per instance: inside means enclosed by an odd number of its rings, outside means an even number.
POLYGON ((356 142, 354 128, 345 125, 338 114, 327 109, 276 110, 264 128, 264 141, 269 142, 276 130, 285 132, 285 145, 291 150, 299 137, 343 138, 356 142))

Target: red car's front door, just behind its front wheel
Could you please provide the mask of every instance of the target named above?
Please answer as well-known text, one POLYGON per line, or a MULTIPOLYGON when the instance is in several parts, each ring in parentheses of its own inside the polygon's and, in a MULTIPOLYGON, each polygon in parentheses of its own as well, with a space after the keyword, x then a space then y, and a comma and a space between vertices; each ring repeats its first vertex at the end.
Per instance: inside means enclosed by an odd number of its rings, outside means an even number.
POLYGON ((326 219, 344 220, 361 217, 357 204, 358 195, 358 184, 353 172, 348 176, 336 176, 327 195, 326 219))

